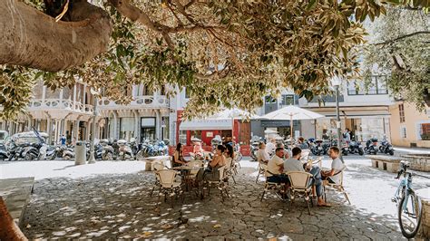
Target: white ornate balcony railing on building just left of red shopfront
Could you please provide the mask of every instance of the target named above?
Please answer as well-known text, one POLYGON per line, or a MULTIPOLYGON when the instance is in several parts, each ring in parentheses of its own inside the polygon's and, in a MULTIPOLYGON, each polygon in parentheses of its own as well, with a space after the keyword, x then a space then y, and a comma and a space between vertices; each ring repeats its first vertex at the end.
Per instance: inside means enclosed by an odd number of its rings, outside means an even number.
POLYGON ((148 108, 148 109, 158 109, 158 108, 168 108, 169 100, 166 96, 137 96, 134 97, 134 100, 129 104, 122 105, 117 104, 115 101, 111 101, 108 98, 103 97, 102 100, 99 101, 99 106, 101 108, 148 108))

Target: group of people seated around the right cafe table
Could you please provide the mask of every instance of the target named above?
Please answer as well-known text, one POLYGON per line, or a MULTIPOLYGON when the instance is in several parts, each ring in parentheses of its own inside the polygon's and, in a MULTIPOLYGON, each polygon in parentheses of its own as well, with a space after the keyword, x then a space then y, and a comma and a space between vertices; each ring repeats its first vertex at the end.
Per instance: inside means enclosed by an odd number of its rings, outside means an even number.
MULTIPOLYGON (((275 153, 272 158, 269 158, 269 153, 266 151, 266 145, 264 142, 259 143, 259 151, 257 152, 257 159, 260 164, 266 170, 266 177, 269 182, 285 183, 286 188, 288 187, 289 180, 286 173, 288 171, 307 171, 312 174, 311 182, 308 185, 315 186, 315 190, 318 197, 318 206, 328 207, 325 202, 324 187, 322 180, 327 179, 329 182, 338 183, 338 173, 345 169, 344 163, 338 158, 339 149, 337 147, 331 147, 328 150, 328 156, 332 159, 331 169, 321 170, 318 166, 309 166, 308 163, 302 163, 300 161, 302 155, 302 149, 295 147, 291 150, 291 157, 289 157, 288 150, 282 146, 278 146, 275 149, 275 153)), ((280 195, 284 196, 287 193, 287 189, 280 195)), ((284 197, 282 197, 284 198, 284 197)))

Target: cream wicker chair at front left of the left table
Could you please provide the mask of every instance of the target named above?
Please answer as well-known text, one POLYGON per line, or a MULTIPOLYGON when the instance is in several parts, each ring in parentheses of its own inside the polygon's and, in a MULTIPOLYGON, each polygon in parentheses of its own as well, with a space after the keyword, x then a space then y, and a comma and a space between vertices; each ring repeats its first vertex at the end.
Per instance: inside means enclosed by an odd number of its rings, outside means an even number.
POLYGON ((157 203, 160 202, 160 195, 164 194, 164 201, 167 200, 168 196, 181 195, 183 201, 183 191, 181 182, 175 181, 177 172, 171 169, 161 169, 155 172, 160 181, 160 191, 158 195, 157 203))

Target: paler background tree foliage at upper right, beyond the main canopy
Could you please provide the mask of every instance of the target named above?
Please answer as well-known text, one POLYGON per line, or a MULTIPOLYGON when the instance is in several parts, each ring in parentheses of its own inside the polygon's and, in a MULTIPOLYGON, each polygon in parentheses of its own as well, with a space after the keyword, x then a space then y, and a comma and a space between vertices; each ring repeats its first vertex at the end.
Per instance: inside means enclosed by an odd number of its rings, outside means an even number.
MULTIPOLYGON (((388 7, 371 26, 365 76, 386 74, 386 86, 396 97, 430 106, 430 14, 417 8, 388 7)), ((369 78, 365 78, 368 82, 369 78)))

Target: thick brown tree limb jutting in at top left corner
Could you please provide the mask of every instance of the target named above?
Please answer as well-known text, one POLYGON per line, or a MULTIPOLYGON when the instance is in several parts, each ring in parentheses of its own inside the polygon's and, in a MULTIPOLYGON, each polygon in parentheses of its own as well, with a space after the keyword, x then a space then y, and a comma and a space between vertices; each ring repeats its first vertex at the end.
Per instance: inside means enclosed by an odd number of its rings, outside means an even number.
POLYGON ((73 22, 56 23, 53 17, 19 0, 3 1, 0 64, 57 72, 105 52, 112 33, 109 14, 86 0, 74 0, 70 11, 73 22))

